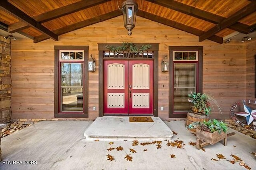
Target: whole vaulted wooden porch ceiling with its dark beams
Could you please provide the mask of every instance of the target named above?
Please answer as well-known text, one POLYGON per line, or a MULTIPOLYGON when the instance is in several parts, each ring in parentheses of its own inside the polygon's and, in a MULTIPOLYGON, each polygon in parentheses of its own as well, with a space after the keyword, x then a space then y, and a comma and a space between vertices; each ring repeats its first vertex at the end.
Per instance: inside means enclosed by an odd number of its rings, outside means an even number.
MULTIPOLYGON (((58 36, 121 16, 124 0, 0 0, 0 28, 34 39, 58 36)), ((223 43, 256 30, 256 0, 136 0, 137 16, 223 43)), ((125 28, 124 28, 125 29, 125 28)))

